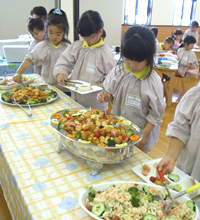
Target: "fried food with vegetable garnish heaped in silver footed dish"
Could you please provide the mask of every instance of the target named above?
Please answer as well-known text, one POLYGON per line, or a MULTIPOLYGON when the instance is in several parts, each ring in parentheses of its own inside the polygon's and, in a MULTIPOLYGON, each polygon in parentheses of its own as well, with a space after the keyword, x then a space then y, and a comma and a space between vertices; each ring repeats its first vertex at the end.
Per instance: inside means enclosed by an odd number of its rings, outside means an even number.
POLYGON ((94 109, 59 111, 50 117, 50 123, 56 130, 64 130, 69 139, 100 147, 124 147, 142 138, 139 127, 131 121, 94 109))

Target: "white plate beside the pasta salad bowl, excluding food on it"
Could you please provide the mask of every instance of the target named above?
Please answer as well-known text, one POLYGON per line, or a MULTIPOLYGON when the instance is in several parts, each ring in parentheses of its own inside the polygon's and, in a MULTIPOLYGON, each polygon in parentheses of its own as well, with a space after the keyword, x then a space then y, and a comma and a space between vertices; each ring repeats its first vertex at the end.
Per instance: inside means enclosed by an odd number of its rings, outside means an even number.
MULTIPOLYGON (((141 179, 143 179, 145 182, 147 183, 152 183, 149 178, 151 176, 153 177, 156 177, 156 164, 158 165, 159 162, 161 161, 162 158, 159 158, 159 159, 155 159, 155 160, 151 160, 151 161, 148 161, 144 164, 147 164, 149 167, 150 167, 150 172, 148 173, 147 176, 144 176, 141 172, 142 172, 142 166, 141 165, 137 165, 135 167, 132 168, 132 171, 137 174, 141 179)), ((143 165, 144 165, 143 164, 143 165)), ((177 167, 174 167, 174 170, 172 172, 173 174, 177 174, 179 177, 180 177, 180 180, 178 182, 173 182, 171 181, 167 175, 165 175, 165 178, 167 178, 170 182, 169 186, 173 186, 173 185, 176 185, 176 184, 179 184, 181 186, 181 191, 189 188, 190 186, 194 185, 194 181, 195 183, 198 183, 198 181, 196 180, 193 180, 192 177, 190 177, 189 175, 187 175, 186 173, 184 173, 182 170, 180 170, 179 168, 177 167), (192 180, 191 180, 192 179, 192 180)), ((154 184, 154 183, 152 183, 154 184)), ((156 185, 156 184, 154 184, 156 185)), ((157 186, 157 185, 156 185, 157 186)), ((196 197, 197 195, 200 194, 200 189, 192 192, 192 193, 189 193, 187 194, 186 196, 189 197, 189 198, 194 198, 196 197)))

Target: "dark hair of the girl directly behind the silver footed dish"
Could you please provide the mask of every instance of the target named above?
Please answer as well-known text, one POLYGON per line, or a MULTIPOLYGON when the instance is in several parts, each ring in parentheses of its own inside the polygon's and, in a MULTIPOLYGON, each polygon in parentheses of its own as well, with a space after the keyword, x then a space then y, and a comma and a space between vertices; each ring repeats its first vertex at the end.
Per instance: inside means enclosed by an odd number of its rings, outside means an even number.
POLYGON ((153 56, 155 53, 155 36, 147 27, 134 25, 125 31, 121 43, 123 57, 136 62, 147 60, 147 64, 153 68, 153 56))

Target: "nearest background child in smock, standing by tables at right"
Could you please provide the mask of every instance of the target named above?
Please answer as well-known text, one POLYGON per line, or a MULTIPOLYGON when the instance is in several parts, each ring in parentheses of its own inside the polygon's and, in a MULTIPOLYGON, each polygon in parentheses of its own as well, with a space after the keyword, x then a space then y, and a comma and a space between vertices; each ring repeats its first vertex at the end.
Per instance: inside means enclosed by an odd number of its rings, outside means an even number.
POLYGON ((196 43, 196 39, 191 35, 188 35, 183 40, 184 47, 179 48, 177 51, 179 65, 178 65, 178 73, 176 73, 176 76, 185 77, 187 71, 197 74, 198 71, 197 67, 199 65, 198 60, 195 55, 195 52, 191 51, 195 43, 196 43))

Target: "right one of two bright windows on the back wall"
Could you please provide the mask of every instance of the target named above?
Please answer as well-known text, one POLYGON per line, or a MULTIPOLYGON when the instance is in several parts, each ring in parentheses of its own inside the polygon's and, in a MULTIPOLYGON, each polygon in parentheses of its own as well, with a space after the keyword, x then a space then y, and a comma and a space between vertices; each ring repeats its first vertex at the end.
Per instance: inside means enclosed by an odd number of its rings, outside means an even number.
POLYGON ((173 25, 189 26, 194 20, 196 0, 176 0, 173 25))

